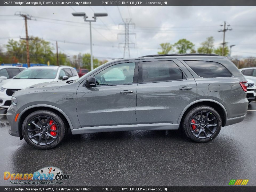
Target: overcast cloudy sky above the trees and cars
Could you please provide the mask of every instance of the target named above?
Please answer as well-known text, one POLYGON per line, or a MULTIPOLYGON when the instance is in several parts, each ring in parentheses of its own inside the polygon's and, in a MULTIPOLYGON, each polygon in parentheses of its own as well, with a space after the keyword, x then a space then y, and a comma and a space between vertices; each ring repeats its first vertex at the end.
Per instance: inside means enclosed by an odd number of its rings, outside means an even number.
MULTIPOLYGON (((122 58, 124 28, 122 18, 131 18, 131 57, 156 54, 159 44, 177 42, 186 38, 195 44, 195 49, 207 37, 213 36, 215 47, 223 41, 220 25, 226 21, 232 31, 226 32, 232 56, 256 57, 256 7, 255 6, 2 6, 0 7, 0 46, 4 49, 8 38, 25 37, 22 11, 32 16, 28 21, 29 36, 38 36, 50 41, 59 51, 70 55, 90 53, 89 23, 82 17, 73 17, 73 12, 85 12, 90 19, 94 12, 106 12, 108 17, 93 22, 93 55, 101 58, 122 58), (119 8, 119 10, 118 10, 119 8)), ((56 50, 54 49, 54 52, 56 50)), ((174 52, 175 53, 175 50, 174 52)), ((128 54, 126 54, 128 57, 128 54)))

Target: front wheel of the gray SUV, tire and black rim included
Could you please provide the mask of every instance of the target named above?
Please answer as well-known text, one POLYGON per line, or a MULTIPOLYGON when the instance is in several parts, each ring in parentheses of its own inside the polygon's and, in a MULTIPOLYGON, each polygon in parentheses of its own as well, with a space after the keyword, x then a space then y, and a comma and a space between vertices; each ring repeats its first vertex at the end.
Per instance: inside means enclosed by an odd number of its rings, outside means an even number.
POLYGON ((48 110, 34 111, 22 124, 25 141, 40 150, 56 147, 67 134, 67 130, 65 121, 58 114, 48 110))

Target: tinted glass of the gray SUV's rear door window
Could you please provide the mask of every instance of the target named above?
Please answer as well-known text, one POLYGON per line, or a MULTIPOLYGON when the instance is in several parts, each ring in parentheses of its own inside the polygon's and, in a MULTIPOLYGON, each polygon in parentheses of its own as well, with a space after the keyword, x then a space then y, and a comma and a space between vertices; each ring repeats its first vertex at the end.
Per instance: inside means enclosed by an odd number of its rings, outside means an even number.
POLYGON ((142 82, 174 81, 185 79, 183 72, 174 61, 144 61, 142 82))

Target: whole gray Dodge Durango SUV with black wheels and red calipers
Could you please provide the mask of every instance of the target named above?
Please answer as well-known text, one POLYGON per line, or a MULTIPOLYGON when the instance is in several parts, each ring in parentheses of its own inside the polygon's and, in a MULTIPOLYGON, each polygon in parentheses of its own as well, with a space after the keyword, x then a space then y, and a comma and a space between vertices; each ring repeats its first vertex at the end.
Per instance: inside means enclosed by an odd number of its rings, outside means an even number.
POLYGON ((9 133, 37 149, 67 135, 181 129, 195 142, 246 115, 246 79, 218 55, 148 55, 105 63, 78 80, 13 94, 9 133))

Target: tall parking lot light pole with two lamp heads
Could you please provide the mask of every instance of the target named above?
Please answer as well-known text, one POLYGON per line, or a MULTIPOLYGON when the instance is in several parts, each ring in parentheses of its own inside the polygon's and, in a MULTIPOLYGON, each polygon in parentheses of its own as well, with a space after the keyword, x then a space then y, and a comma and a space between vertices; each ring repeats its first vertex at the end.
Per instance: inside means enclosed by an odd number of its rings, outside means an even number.
POLYGON ((97 17, 106 17, 107 13, 94 13, 93 20, 87 20, 86 13, 72 13, 74 17, 84 17, 85 21, 90 23, 90 49, 91 49, 91 70, 93 70, 93 43, 91 37, 91 22, 96 22, 97 17))

